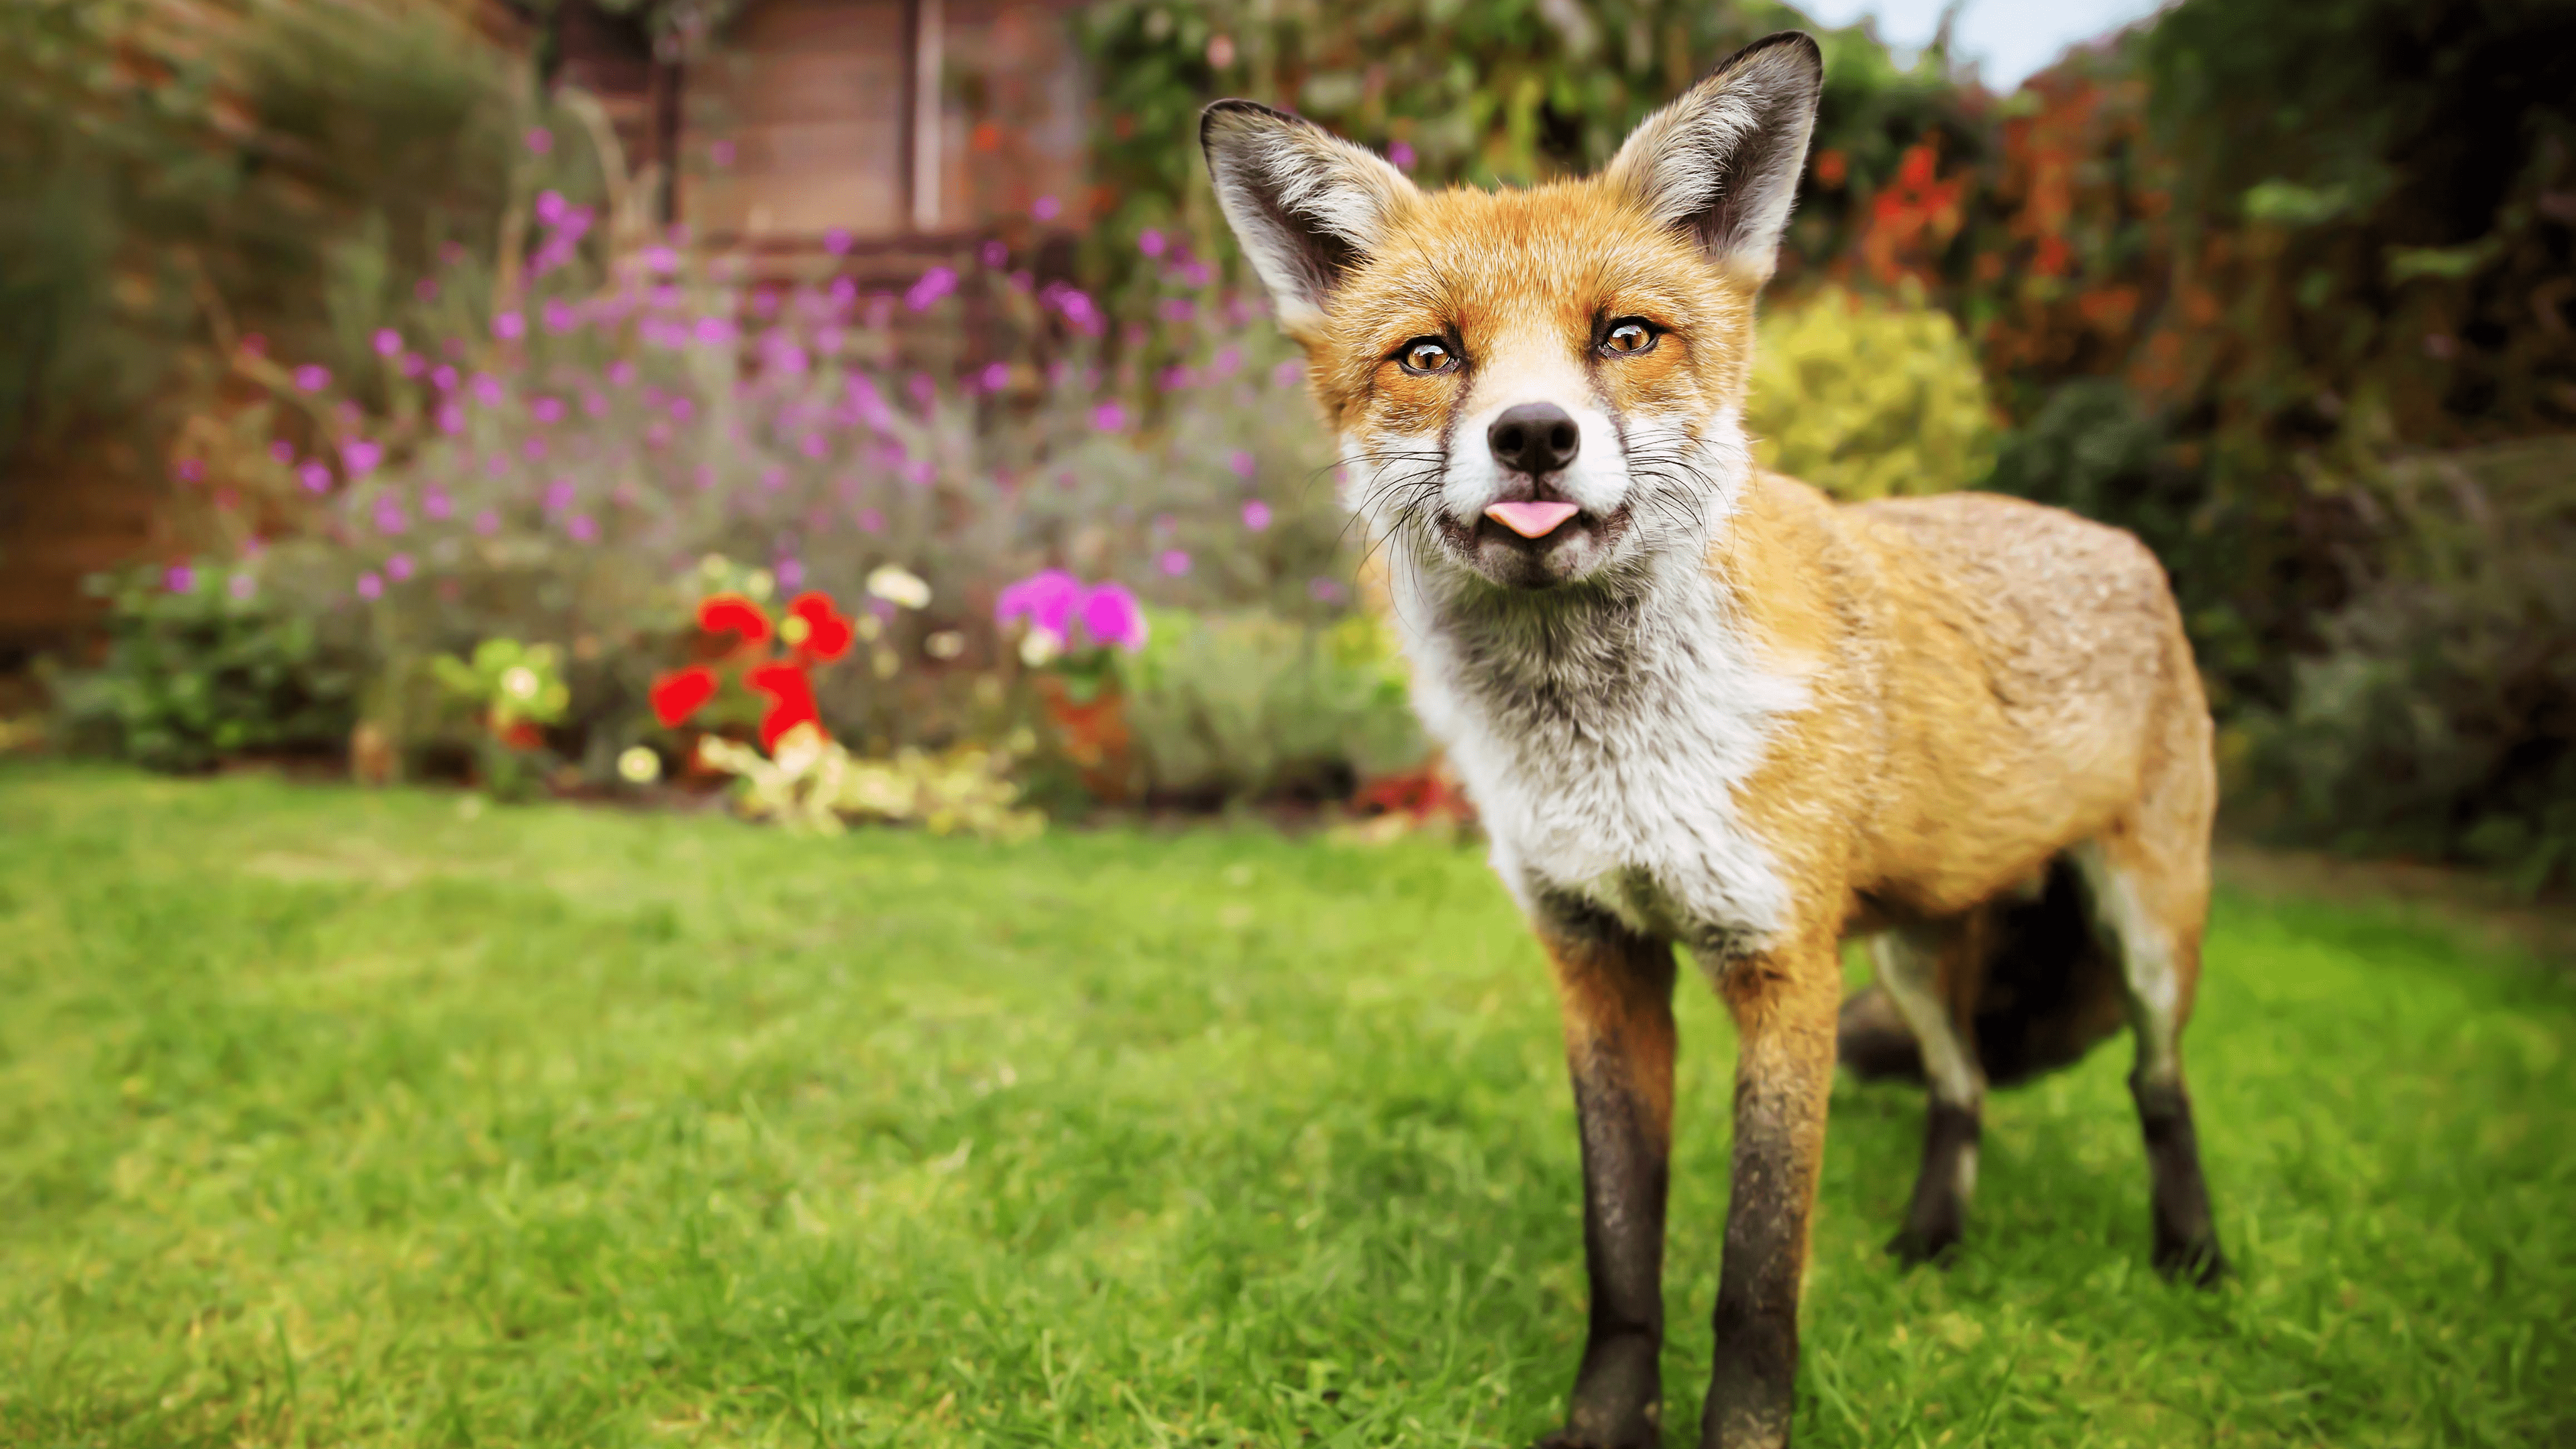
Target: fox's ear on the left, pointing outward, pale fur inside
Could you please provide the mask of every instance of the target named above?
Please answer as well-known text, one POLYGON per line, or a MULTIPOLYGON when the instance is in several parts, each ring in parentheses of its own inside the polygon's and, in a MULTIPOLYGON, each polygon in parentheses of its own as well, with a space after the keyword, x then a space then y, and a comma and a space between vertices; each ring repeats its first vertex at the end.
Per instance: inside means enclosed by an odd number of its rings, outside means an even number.
POLYGON ((1234 240, 1291 330, 1324 312, 1332 289, 1417 196, 1381 157, 1255 101, 1208 106, 1198 144, 1234 240))

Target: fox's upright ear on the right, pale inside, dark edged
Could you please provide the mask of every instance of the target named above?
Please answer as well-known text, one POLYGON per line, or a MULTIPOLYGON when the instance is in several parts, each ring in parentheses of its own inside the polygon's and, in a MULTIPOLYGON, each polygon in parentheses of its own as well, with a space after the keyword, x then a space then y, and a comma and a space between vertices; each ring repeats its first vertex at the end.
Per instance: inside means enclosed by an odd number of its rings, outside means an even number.
POLYGON ((1806 31, 1765 36, 1718 64, 1628 137, 1607 180, 1656 222, 1687 227, 1713 263, 1770 281, 1824 93, 1824 52, 1806 31))

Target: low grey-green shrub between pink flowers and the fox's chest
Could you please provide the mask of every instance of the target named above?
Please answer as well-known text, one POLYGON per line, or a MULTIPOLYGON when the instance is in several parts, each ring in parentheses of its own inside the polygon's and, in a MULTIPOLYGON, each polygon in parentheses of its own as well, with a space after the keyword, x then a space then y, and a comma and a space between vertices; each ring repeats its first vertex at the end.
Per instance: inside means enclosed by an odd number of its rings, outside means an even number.
POLYGON ((1159 608, 1121 681, 1159 799, 1342 799, 1425 753, 1394 642, 1368 614, 1319 629, 1159 608))

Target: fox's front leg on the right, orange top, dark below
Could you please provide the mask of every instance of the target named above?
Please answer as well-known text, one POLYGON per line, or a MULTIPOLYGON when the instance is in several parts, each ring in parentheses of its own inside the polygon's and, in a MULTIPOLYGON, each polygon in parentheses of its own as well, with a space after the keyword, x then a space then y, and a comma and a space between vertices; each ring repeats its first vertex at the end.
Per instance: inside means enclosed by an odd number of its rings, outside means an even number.
POLYGON ((1842 995, 1832 936, 1718 964, 1736 1018, 1734 1194, 1700 1449, 1783 1449, 1795 1410, 1798 1281, 1824 1165, 1842 995))

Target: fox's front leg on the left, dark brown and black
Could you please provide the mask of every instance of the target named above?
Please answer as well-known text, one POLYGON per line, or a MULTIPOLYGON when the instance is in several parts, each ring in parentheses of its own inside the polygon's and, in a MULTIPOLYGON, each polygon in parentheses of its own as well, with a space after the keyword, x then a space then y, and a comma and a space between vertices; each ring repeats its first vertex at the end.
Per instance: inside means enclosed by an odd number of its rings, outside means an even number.
POLYGON ((1672 944, 1584 908, 1538 926, 1564 1008, 1584 1150, 1592 1323, 1566 1426, 1543 1449, 1662 1441, 1664 1183, 1672 1155, 1672 944))

